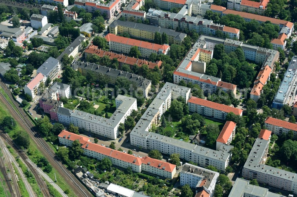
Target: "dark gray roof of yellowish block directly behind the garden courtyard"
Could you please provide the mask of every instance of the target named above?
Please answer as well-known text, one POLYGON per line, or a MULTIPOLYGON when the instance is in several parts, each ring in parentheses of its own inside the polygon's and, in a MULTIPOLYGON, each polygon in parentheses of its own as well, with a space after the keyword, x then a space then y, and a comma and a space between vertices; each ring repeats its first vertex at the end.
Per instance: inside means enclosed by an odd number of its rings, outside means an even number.
POLYGON ((83 63, 83 62, 74 62, 78 67, 83 68, 85 70, 92 70, 94 72, 100 72, 104 75, 109 75, 113 77, 125 77, 132 83, 136 84, 137 87, 146 89, 150 84, 151 80, 143 78, 139 75, 135 75, 129 72, 124 72, 121 70, 112 69, 109 67, 100 66, 93 63, 83 63))

